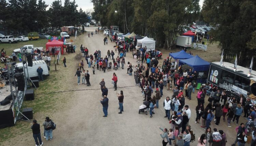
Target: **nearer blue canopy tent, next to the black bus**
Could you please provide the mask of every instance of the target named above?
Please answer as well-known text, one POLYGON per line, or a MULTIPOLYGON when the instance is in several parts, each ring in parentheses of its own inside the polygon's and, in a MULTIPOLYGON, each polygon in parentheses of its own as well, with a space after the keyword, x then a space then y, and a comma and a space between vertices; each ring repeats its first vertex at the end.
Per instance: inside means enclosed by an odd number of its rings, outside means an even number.
POLYGON ((189 58, 179 60, 179 65, 188 65, 193 68, 193 72, 197 71, 198 83, 205 83, 207 79, 207 72, 210 66, 210 63, 200 58, 198 55, 189 58))

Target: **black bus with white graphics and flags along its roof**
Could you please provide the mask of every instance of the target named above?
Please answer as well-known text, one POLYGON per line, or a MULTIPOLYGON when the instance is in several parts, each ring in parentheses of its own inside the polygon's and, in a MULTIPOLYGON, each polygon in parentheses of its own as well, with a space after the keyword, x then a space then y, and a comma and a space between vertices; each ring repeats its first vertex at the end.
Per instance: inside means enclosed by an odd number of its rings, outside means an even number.
POLYGON ((226 89, 228 96, 239 97, 243 94, 246 98, 250 97, 256 101, 256 71, 252 70, 251 76, 247 76, 249 69, 234 64, 223 62, 212 62, 209 67, 208 84, 222 89, 226 89))

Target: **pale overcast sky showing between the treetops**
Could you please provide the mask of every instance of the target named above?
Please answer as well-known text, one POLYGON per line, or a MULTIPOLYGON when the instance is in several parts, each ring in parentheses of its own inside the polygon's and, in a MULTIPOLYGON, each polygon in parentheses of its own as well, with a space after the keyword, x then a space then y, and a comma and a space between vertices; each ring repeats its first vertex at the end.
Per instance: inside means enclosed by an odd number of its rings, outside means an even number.
MULTIPOLYGON (((53 2, 53 0, 44 0, 44 1, 49 6, 51 6, 52 2, 53 2)), ((65 0, 61 0, 62 5, 64 5, 64 1, 65 0)), ((80 7, 81 7, 82 10, 84 10, 85 12, 93 11, 93 3, 91 3, 90 0, 75 0, 75 1, 76 1, 76 4, 78 5, 78 9, 80 9, 80 7)), ((201 6, 201 8, 202 8, 202 5, 203 5, 203 1, 204 0, 199 0, 199 5, 201 6)))

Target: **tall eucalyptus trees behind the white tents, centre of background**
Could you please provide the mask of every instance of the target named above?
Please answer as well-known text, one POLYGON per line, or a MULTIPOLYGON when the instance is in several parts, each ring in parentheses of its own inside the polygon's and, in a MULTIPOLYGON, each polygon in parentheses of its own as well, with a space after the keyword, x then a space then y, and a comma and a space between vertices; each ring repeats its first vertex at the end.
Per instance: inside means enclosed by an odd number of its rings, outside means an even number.
POLYGON ((102 26, 153 37, 157 47, 170 49, 182 24, 200 18, 199 0, 91 0, 93 19, 102 26))

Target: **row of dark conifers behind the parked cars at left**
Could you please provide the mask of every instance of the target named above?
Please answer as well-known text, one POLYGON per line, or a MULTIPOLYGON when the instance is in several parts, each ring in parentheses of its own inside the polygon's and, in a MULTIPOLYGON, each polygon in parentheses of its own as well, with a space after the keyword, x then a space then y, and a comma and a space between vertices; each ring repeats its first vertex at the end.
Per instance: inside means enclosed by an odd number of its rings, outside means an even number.
POLYGON ((5 34, 11 31, 24 32, 45 32, 62 26, 80 26, 86 22, 88 14, 78 5, 75 0, 65 0, 61 5, 60 0, 52 2, 48 7, 43 0, 0 0, 0 30, 5 34))

